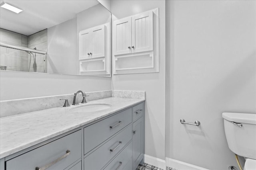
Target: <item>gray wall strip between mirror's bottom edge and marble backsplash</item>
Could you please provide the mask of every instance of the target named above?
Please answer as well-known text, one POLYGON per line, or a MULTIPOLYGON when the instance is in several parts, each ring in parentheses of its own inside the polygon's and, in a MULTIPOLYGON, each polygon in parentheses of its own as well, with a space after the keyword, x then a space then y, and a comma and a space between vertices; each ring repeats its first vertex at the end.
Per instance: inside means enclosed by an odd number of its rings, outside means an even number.
POLYGON ((0 100, 111 90, 111 78, 0 71, 0 100))

